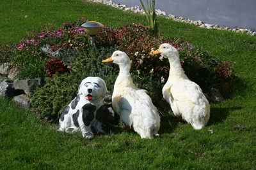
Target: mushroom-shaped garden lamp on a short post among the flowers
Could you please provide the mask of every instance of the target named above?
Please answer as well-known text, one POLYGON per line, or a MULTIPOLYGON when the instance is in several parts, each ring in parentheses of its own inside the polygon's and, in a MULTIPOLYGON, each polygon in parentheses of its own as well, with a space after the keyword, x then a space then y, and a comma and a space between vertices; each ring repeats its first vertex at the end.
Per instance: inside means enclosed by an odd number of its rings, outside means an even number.
POLYGON ((84 31, 90 35, 91 45, 95 46, 94 38, 98 32, 102 30, 103 25, 100 22, 88 21, 84 23, 82 27, 84 27, 84 31))

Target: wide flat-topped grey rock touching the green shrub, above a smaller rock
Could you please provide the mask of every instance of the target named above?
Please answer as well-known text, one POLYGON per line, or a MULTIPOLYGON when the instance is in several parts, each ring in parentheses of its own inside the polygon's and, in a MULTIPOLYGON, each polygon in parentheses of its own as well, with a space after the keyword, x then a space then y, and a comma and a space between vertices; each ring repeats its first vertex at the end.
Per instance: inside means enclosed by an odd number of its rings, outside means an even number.
POLYGON ((15 90, 24 90, 25 94, 31 96, 31 92, 35 90, 37 87, 42 86, 42 80, 38 79, 28 79, 28 80, 14 80, 13 87, 15 90))

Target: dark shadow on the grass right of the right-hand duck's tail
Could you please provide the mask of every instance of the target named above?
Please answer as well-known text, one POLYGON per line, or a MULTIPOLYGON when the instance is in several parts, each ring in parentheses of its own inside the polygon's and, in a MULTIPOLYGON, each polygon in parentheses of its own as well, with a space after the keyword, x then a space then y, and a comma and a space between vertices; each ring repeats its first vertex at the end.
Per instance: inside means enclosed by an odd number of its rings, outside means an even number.
POLYGON ((211 108, 211 116, 207 125, 220 124, 224 122, 230 111, 241 110, 241 107, 232 108, 211 108))

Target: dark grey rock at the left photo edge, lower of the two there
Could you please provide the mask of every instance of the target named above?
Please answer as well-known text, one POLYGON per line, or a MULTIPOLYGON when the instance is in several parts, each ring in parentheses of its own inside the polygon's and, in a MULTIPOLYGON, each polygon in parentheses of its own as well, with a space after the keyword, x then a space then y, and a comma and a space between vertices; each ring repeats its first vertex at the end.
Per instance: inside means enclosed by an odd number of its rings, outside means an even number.
POLYGON ((13 88, 12 80, 4 80, 0 83, 0 96, 13 97, 15 89, 13 88))

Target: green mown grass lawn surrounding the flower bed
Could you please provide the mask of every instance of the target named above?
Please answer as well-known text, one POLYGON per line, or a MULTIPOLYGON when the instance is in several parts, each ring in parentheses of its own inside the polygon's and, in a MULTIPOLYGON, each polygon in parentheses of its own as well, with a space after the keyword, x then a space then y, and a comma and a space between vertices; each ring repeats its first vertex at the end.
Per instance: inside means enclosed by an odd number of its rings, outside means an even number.
MULTIPOLYGON (((24 39, 33 29, 60 27, 79 17, 113 27, 146 24, 145 16, 81 0, 2 0, 0 11, 0 45, 24 39)), ((255 169, 256 37, 163 17, 158 21, 164 36, 182 37, 236 62, 232 96, 211 104, 204 129, 195 131, 163 113, 155 139, 112 127, 108 134, 87 140, 79 133, 56 132, 57 124, 38 120, 32 111, 0 98, 0 169, 255 169)))

